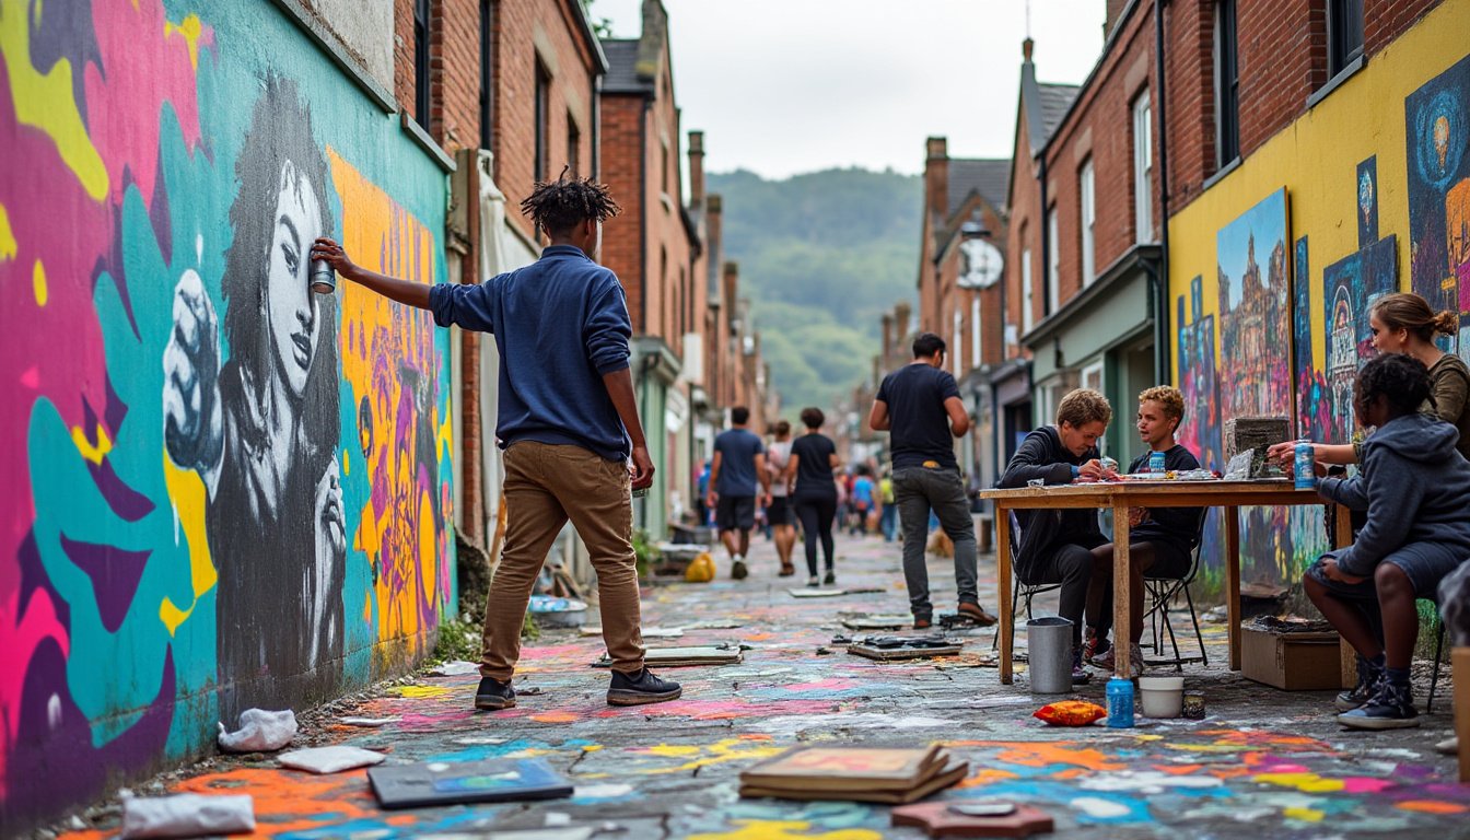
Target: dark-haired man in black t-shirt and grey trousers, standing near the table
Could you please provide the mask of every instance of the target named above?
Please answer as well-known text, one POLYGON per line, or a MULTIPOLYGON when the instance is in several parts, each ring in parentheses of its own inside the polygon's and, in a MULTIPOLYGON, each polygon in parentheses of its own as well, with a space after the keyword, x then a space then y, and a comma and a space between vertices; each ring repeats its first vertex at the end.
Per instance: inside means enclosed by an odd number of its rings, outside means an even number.
POLYGON ((995 624, 995 616, 980 608, 975 587, 975 519, 954 459, 954 438, 970 431, 970 416, 954 377, 944 371, 944 338, 920 332, 914 360, 883 378, 867 418, 873 431, 891 433, 894 503, 904 530, 904 581, 916 628, 933 622, 925 566, 929 510, 954 543, 960 613, 982 625, 995 624))

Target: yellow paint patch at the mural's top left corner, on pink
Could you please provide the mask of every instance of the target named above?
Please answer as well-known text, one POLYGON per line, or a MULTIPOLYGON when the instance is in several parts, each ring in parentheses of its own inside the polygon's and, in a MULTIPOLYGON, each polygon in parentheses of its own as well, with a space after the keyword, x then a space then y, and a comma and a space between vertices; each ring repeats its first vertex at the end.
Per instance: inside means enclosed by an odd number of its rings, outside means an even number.
POLYGON ((62 160, 94 202, 107 197, 107 165, 87 135, 87 125, 72 96, 72 62, 60 59, 46 74, 31 60, 26 0, 0 0, 0 57, 10 76, 10 99, 21 125, 41 129, 56 144, 62 160))

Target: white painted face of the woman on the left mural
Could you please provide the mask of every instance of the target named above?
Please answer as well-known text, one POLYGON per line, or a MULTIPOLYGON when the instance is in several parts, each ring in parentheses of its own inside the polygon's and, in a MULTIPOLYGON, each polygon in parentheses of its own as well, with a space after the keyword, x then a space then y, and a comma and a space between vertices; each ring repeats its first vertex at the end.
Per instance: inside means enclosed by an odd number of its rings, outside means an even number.
POLYGON ((309 249, 325 232, 320 200, 295 166, 287 162, 281 168, 281 191, 272 219, 275 231, 268 263, 266 306, 276 369, 297 397, 306 391, 306 375, 312 369, 320 335, 316 300, 307 290, 309 249))

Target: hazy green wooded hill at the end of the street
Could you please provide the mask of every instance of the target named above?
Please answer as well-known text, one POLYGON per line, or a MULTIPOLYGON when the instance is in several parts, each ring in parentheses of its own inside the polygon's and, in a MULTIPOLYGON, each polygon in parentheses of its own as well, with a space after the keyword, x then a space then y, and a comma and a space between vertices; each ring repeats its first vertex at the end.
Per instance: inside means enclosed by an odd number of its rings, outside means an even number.
POLYGON ((882 313, 914 297, 920 178, 735 171, 711 174, 709 191, 723 196, 725 259, 739 262, 784 413, 826 409, 867 374, 882 313))

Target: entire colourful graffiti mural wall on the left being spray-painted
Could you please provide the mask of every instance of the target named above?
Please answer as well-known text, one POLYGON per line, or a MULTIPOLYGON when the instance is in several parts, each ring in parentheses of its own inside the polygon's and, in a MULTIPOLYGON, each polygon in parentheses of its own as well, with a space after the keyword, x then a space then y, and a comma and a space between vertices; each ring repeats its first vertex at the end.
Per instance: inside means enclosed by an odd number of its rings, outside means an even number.
POLYGON ((266 0, 0 0, 0 825, 401 666, 453 603, 442 172, 266 0), (345 284, 344 284, 345 285, 345 284))

